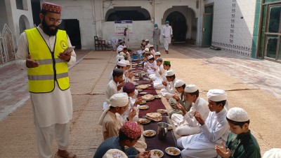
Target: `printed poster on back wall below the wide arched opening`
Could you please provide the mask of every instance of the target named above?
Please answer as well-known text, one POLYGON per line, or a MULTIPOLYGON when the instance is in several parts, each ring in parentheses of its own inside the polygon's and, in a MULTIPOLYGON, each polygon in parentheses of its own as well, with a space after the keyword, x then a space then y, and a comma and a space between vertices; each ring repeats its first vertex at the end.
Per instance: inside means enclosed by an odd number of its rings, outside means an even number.
POLYGON ((133 34, 133 21, 132 20, 115 21, 115 35, 124 36, 125 27, 128 27, 130 35, 133 34))

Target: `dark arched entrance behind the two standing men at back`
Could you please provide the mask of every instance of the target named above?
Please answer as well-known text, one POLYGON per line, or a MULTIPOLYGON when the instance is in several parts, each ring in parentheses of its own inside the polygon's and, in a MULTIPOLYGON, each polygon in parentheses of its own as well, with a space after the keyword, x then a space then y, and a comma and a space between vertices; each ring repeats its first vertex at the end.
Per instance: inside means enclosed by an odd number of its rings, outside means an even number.
POLYGON ((170 13, 166 20, 170 22, 171 28, 173 29, 174 37, 171 38, 172 42, 183 42, 186 39, 186 32, 188 26, 186 25, 185 16, 178 11, 170 13))

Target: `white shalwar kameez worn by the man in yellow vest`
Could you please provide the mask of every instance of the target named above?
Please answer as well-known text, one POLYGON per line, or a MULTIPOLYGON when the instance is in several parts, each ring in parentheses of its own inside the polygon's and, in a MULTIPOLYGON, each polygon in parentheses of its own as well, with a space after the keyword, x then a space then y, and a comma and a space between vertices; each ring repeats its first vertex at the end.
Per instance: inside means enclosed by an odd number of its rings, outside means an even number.
MULTIPOLYGON (((55 36, 48 36, 37 27, 41 36, 46 41, 48 48, 53 52, 55 36)), ((68 47, 71 47, 70 39, 67 36, 68 47)), ((15 64, 20 69, 27 69, 26 59, 28 56, 28 41, 25 32, 20 34, 18 51, 15 54, 15 64)), ((72 51, 68 65, 76 62, 76 54, 72 51)), ((69 145, 69 122, 72 119, 72 96, 70 88, 60 90, 55 82, 55 89, 48 93, 31 93, 33 119, 37 134, 37 146, 39 157, 52 157, 52 141, 56 140, 58 149, 67 150, 69 145)))

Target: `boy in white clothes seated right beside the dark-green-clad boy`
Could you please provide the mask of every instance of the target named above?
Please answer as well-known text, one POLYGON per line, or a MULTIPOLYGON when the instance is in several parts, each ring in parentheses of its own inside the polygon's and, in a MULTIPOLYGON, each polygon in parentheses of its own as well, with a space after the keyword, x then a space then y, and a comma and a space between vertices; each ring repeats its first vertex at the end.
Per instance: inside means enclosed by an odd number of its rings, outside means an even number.
POLYGON ((207 97, 210 112, 206 121, 197 111, 194 115, 200 124, 201 133, 183 136, 177 140, 178 147, 183 148, 181 157, 217 157, 215 145, 220 145, 221 141, 226 143, 229 134, 227 110, 224 108, 226 92, 223 89, 210 89, 207 97))

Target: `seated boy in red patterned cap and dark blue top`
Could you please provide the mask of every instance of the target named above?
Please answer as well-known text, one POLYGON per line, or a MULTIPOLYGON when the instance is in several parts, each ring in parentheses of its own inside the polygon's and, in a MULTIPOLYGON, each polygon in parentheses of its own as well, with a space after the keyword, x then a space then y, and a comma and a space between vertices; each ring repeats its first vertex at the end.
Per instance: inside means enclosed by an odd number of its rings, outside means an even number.
POLYGON ((141 128, 138 124, 136 122, 125 122, 117 136, 112 136, 100 144, 93 158, 103 157, 107 150, 110 149, 122 150, 129 158, 150 158, 150 151, 138 154, 136 148, 133 148, 139 138, 141 138, 141 128), (125 150, 125 146, 129 148, 125 150))

